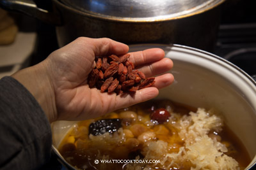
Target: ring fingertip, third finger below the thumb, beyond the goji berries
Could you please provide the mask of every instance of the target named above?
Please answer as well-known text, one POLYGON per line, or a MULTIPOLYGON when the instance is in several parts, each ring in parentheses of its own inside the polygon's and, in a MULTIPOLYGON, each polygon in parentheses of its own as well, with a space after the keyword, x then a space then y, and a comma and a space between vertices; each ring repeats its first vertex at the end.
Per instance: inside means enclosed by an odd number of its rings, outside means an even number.
POLYGON ((171 73, 162 74, 160 76, 156 76, 154 87, 157 89, 162 89, 164 87, 167 87, 168 85, 171 85, 173 83, 174 77, 171 73))

